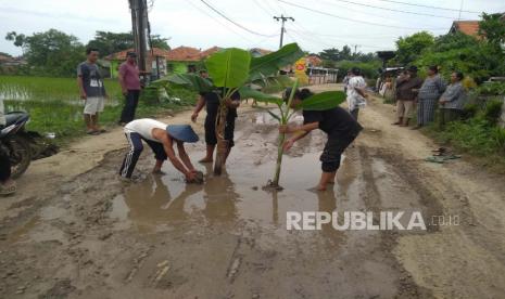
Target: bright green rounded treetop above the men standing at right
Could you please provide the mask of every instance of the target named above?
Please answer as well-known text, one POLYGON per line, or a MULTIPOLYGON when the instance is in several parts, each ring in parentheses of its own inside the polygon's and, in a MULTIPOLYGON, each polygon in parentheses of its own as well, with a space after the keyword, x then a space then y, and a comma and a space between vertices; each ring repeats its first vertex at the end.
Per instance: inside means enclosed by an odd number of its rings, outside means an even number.
POLYGON ((408 37, 401 37, 396 41, 395 62, 400 64, 409 64, 421 56, 422 52, 433 46, 434 37, 427 32, 420 31, 408 37))

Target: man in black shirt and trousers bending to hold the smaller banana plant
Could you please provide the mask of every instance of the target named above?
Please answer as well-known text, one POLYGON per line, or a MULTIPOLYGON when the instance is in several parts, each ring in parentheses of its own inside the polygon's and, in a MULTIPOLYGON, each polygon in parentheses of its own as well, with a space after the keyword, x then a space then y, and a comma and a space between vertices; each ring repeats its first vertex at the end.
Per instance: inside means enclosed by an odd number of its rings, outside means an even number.
MULTIPOLYGON (((285 101, 291 89, 285 91, 285 101)), ((308 89, 296 90, 291 107, 312 95, 308 89)), ((340 167, 340 159, 345 148, 356 139, 363 127, 345 109, 334 107, 327 110, 303 110, 303 126, 280 126, 281 133, 294 133, 285 142, 283 151, 289 151, 295 141, 306 136, 312 130, 320 129, 328 134, 328 141, 320 155, 323 173, 317 191, 325 191, 328 184, 334 184, 334 177, 340 167)))

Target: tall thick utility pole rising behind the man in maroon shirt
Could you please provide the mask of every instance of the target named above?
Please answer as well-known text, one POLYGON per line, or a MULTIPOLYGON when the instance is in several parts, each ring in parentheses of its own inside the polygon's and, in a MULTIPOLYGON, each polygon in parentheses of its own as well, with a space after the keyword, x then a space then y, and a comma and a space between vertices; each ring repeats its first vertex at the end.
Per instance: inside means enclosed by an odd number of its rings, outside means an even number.
POLYGON ((135 52, 137 52, 137 65, 143 81, 147 74, 147 53, 148 53, 148 4, 146 0, 128 0, 131 10, 131 32, 134 34, 135 52))

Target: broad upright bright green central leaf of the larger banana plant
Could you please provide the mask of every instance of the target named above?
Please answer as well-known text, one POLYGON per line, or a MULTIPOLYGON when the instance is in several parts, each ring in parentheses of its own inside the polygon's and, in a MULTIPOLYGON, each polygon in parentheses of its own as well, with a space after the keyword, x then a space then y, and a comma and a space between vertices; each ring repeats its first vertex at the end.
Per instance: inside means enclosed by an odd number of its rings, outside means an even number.
POLYGON ((239 88, 248 80, 250 64, 251 54, 237 48, 224 49, 205 61, 214 86, 229 89, 239 88))

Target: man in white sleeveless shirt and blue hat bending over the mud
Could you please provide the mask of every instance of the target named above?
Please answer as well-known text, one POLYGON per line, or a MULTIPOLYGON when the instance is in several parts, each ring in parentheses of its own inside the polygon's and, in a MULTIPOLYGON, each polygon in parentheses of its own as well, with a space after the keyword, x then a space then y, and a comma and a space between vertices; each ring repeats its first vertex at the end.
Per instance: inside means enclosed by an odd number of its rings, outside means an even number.
POLYGON ((125 135, 130 150, 126 154, 119 170, 121 178, 131 179, 135 166, 142 153, 142 140, 154 152, 156 164, 153 173, 163 173, 162 165, 168 158, 177 170, 182 172, 189 183, 201 182, 197 171, 186 153, 185 142, 197 142, 197 133, 189 125, 166 125, 161 121, 143 118, 128 122, 125 128, 125 135), (175 155, 173 145, 177 143, 179 157, 175 155), (180 159, 179 159, 180 158, 180 159))

